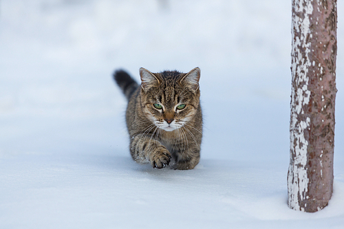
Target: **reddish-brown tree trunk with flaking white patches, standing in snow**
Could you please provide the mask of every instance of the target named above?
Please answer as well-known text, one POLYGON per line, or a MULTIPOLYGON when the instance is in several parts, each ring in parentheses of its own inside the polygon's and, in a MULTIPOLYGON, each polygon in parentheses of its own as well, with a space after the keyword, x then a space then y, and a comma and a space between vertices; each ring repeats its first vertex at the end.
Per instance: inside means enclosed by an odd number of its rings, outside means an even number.
POLYGON ((288 205, 316 212, 333 189, 336 0, 292 0, 288 205))

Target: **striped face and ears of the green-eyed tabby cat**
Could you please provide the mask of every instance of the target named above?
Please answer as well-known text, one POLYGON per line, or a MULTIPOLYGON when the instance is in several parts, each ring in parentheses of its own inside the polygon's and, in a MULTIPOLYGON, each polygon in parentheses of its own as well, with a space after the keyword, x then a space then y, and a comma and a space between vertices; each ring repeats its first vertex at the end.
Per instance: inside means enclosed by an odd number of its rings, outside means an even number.
POLYGON ((188 73, 152 73, 140 68, 142 110, 164 131, 179 129, 195 116, 200 105, 200 69, 188 73))

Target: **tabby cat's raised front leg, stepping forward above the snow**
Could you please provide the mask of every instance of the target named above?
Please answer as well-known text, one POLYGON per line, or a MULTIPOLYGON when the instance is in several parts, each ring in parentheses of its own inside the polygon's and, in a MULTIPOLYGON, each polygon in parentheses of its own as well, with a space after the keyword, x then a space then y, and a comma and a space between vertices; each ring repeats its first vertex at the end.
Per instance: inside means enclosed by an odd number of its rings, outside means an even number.
POLYGON ((130 153, 136 162, 150 162, 153 168, 164 168, 171 161, 171 153, 166 147, 149 135, 132 136, 130 153))

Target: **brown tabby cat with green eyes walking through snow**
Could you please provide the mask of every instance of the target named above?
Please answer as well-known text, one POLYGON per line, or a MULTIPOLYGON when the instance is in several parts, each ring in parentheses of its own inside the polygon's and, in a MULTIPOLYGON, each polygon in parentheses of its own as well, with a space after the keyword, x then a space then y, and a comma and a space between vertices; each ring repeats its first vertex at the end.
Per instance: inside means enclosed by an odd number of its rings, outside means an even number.
POLYGON ((127 72, 114 73, 128 100, 126 121, 130 153, 153 168, 193 169, 200 162, 202 109, 200 68, 188 73, 152 73, 140 68, 141 84, 127 72))

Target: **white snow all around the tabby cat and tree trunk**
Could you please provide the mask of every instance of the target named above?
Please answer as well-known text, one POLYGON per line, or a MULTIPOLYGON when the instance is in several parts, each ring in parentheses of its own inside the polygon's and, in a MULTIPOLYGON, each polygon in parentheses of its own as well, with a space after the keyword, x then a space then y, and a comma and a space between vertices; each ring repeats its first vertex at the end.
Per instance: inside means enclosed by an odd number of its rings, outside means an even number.
POLYGON ((334 195, 287 206, 289 0, 0 1, 0 228, 344 228, 343 2, 334 195), (193 171, 132 162, 114 69, 200 67, 193 171))

